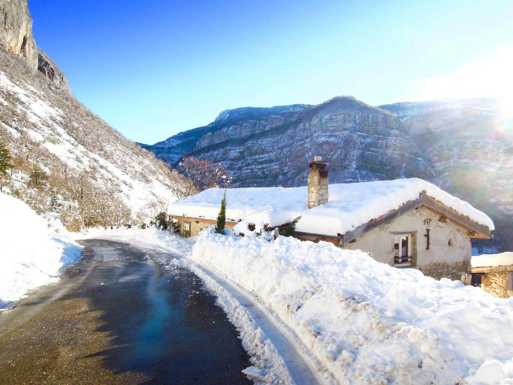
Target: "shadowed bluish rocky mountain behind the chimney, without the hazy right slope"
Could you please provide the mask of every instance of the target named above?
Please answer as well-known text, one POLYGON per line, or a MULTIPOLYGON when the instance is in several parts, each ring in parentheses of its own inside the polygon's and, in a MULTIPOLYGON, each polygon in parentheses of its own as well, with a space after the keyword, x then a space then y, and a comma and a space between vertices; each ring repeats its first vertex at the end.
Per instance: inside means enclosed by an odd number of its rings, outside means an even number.
POLYGON ((327 159, 331 183, 434 177, 395 115, 354 98, 260 112, 257 119, 226 121, 226 116, 243 117, 224 111, 206 127, 147 148, 171 163, 185 154, 221 162, 236 186, 305 185, 316 155, 327 159))

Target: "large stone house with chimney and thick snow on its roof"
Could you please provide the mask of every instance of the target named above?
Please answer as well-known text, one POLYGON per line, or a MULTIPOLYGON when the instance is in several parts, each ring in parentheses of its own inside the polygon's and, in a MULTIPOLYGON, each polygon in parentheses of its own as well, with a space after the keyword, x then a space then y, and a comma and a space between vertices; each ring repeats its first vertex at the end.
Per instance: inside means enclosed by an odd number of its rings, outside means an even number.
MULTIPOLYGON (((471 238, 491 237, 490 218, 421 179, 328 184, 326 162, 315 157, 304 187, 227 190, 226 227, 258 236, 301 217, 295 236, 360 249, 399 268, 439 279, 470 273, 471 238)), ((224 190, 210 188, 170 205, 180 234, 215 224, 224 190)))

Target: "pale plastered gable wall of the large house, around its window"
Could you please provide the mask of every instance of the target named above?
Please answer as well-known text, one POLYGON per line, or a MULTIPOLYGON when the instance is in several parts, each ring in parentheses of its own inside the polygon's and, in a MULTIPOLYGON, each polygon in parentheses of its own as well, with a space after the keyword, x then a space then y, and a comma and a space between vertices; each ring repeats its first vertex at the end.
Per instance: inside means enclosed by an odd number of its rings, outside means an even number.
POLYGON ((394 237, 409 235, 412 267, 433 278, 459 279, 462 273, 470 273, 471 245, 467 229, 451 220, 440 222, 439 218, 438 213, 422 206, 370 230, 356 242, 344 244, 344 248, 360 249, 393 266, 394 237), (428 228, 430 244, 426 249, 424 235, 428 228))

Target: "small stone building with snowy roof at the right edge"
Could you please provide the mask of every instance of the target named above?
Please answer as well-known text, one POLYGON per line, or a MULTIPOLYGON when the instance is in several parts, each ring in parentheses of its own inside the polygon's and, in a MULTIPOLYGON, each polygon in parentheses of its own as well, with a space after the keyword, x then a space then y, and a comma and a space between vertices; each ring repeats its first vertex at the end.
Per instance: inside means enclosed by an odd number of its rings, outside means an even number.
POLYGON ((473 256, 472 284, 501 298, 513 296, 513 252, 473 256))

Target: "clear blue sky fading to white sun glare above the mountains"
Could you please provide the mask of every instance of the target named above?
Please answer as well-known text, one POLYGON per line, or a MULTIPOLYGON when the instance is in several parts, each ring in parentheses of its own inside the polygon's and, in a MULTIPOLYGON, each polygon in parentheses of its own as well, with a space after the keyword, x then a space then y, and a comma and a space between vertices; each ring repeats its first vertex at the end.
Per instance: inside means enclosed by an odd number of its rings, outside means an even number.
POLYGON ((227 108, 500 93, 502 75, 488 75, 511 59, 513 2, 418 3, 29 0, 29 9, 36 43, 77 98, 129 139, 154 143, 227 108))

